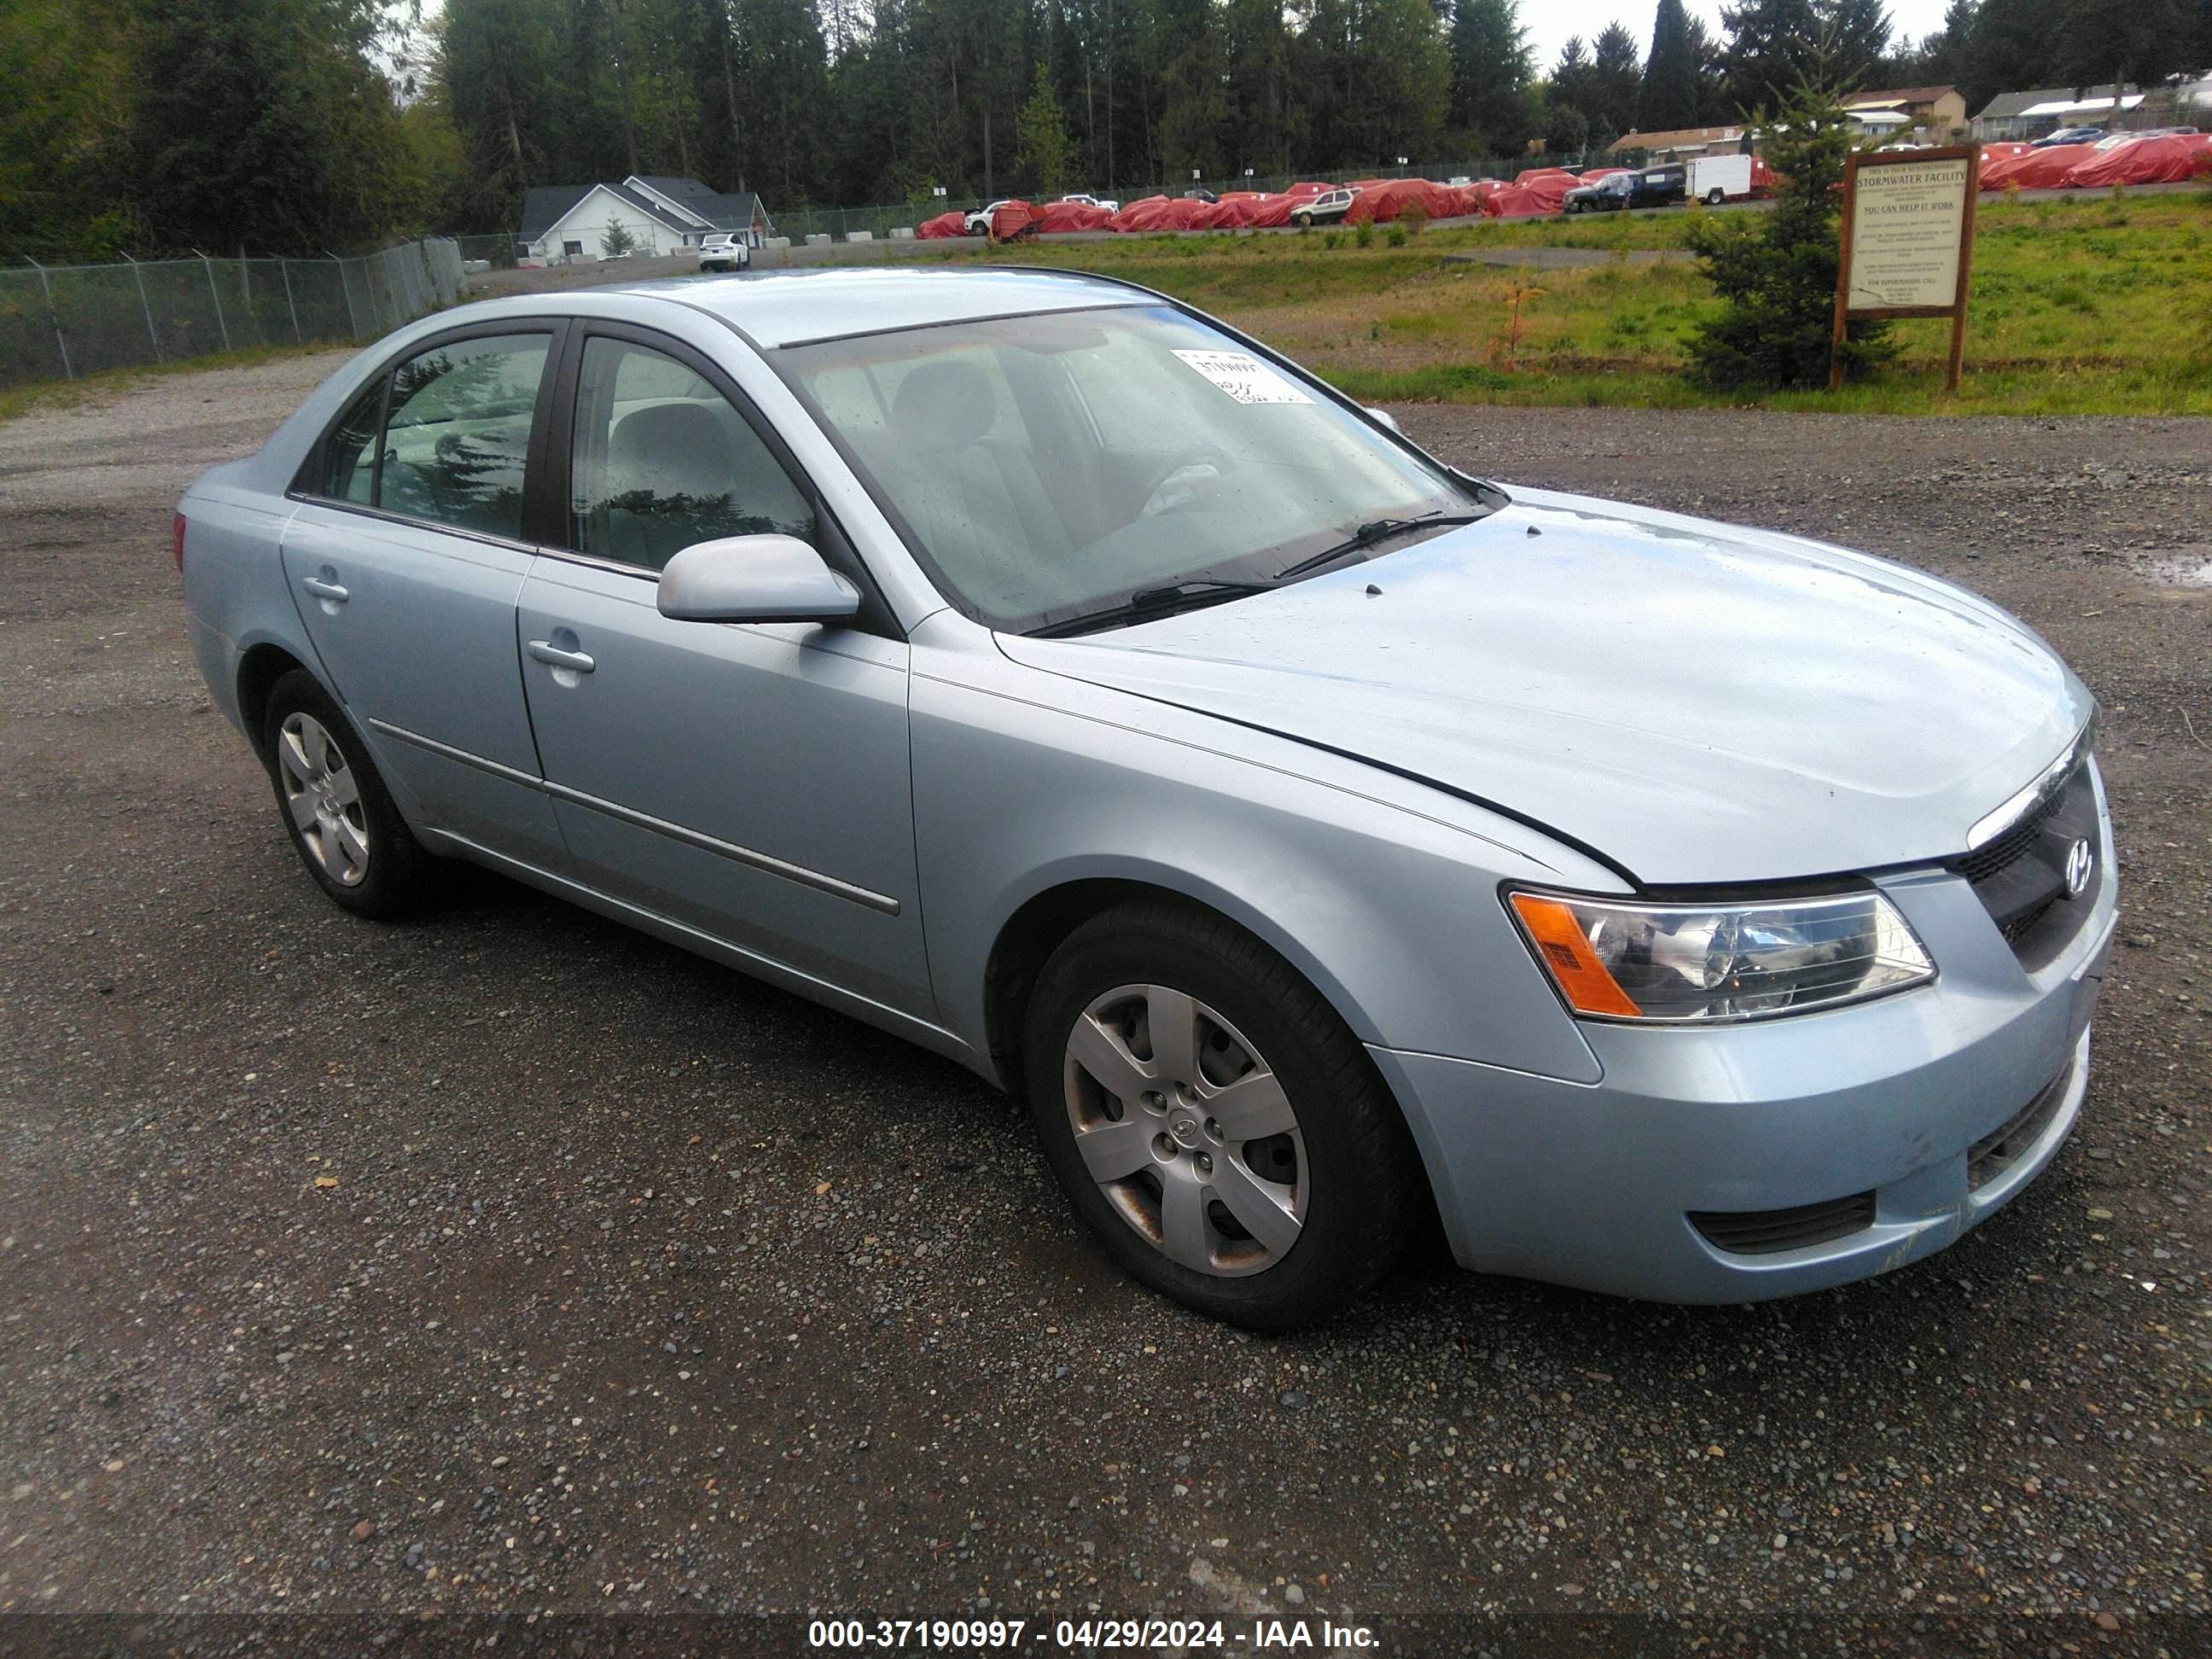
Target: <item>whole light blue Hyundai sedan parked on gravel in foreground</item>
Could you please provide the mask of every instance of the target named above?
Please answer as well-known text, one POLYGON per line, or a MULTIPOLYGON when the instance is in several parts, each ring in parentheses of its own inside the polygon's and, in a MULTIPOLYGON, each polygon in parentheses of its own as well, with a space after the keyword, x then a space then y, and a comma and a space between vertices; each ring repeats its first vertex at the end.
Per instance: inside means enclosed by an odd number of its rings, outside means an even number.
POLYGON ((1431 1217, 1486 1272, 1818 1290, 2081 1110, 2117 865, 2031 628, 1509 493, 1128 283, 440 312, 175 553, 338 911, 467 860, 909 1037, 1221 1318, 1340 1307, 1431 1217))

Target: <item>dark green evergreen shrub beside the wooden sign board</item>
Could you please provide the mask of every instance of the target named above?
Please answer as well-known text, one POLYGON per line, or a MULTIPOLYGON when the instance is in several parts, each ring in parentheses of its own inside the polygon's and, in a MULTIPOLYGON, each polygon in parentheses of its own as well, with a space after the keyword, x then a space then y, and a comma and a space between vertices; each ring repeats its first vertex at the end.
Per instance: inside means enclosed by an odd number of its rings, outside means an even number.
MULTIPOLYGON (((1688 374, 1721 392, 1825 387, 1840 259, 1836 186, 1858 142, 1836 97, 1812 86, 1754 124, 1770 133, 1778 192, 1763 215, 1690 221, 1690 248, 1725 305, 1690 341, 1688 374)), ((1865 376, 1893 352, 1887 323, 1851 323, 1845 378, 1865 376)))

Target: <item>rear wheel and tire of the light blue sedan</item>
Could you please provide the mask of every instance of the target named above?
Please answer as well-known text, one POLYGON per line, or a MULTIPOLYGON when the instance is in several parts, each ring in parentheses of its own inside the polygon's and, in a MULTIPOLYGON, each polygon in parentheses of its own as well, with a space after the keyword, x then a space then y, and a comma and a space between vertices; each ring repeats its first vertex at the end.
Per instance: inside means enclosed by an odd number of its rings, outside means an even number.
POLYGON ((385 920, 429 896, 431 856, 352 721, 305 668, 270 688, 261 752, 292 849, 338 909, 385 920))

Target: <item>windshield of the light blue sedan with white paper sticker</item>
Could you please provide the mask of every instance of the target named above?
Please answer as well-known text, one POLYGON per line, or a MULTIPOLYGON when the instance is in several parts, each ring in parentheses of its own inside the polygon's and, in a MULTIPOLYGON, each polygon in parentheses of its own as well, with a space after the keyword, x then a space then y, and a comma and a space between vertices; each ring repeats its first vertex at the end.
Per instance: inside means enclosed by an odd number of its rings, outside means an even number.
POLYGON ((1358 411, 1166 305, 779 352, 951 604, 1004 630, 1267 582, 1376 520, 1480 513, 1358 411))

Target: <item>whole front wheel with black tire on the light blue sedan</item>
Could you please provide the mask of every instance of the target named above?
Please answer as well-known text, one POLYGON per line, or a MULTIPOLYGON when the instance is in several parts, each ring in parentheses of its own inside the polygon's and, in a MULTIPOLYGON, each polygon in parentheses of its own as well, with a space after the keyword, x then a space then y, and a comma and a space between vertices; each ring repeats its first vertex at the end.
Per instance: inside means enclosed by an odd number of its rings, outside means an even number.
POLYGON ((1084 922, 1037 975, 1022 1062, 1044 1157, 1084 1225, 1201 1314, 1252 1329, 1327 1318, 1427 1214, 1411 1135, 1367 1051, 1221 916, 1139 900, 1084 922))

